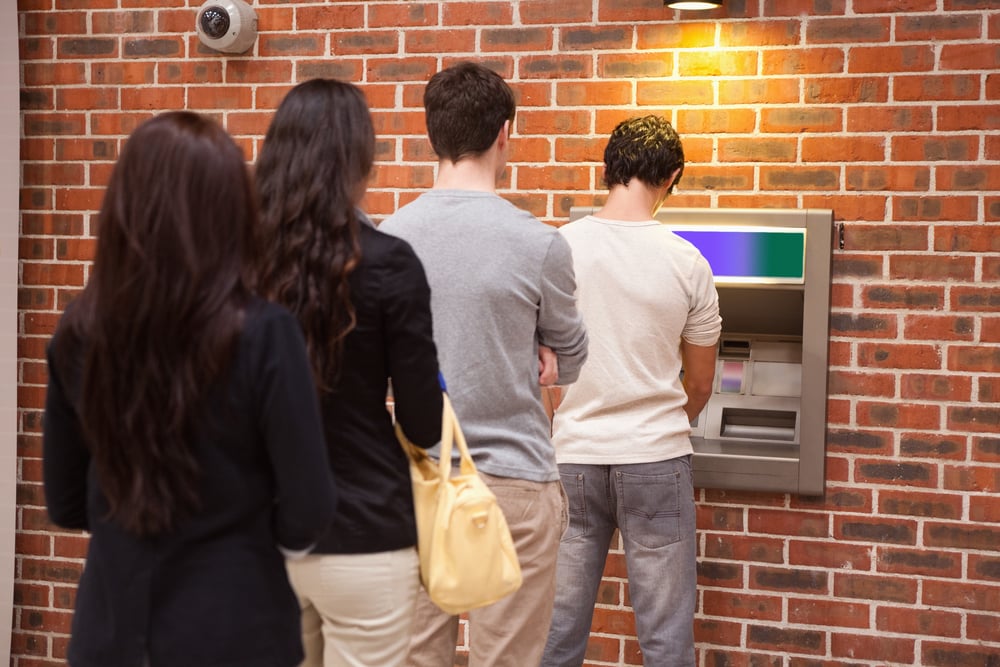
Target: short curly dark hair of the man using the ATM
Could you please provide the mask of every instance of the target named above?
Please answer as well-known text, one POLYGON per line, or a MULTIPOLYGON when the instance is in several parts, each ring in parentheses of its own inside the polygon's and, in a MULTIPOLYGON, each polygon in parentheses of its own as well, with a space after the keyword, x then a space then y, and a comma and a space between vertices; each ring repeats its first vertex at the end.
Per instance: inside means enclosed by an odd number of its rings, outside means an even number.
POLYGON ((678 169, 671 191, 684 173, 684 148, 677 131, 661 116, 622 121, 611 132, 604 149, 604 181, 608 187, 628 185, 633 178, 658 187, 678 169))

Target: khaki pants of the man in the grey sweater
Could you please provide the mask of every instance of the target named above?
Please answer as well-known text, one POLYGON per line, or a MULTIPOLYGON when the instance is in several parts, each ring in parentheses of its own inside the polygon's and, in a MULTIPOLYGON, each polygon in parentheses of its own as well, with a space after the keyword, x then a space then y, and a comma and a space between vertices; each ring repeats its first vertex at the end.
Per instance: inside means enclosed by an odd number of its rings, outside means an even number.
MULTIPOLYGON (((513 595, 469 612, 469 667, 536 667, 552 620, 565 494, 558 481, 479 474, 507 519, 523 583, 513 595)), ((438 609, 421 588, 406 665, 452 667, 457 639, 458 616, 438 609)))

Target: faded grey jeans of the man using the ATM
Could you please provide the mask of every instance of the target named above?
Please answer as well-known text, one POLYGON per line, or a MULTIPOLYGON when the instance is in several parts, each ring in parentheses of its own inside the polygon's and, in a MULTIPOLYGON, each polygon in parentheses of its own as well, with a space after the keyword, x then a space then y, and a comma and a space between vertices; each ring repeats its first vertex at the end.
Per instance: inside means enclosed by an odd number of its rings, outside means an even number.
POLYGON ((615 528, 621 531, 636 635, 646 665, 693 667, 697 545, 691 457, 559 466, 569 528, 542 667, 580 667, 615 528))

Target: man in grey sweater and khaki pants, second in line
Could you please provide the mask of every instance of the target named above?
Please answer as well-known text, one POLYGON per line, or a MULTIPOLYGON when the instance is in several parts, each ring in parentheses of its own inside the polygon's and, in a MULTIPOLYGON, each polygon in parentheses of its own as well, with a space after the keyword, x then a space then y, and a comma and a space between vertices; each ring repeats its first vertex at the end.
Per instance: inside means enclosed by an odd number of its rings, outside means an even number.
MULTIPOLYGON (((470 665, 541 660, 565 522, 540 382, 569 384, 587 356, 569 245, 496 194, 515 103, 477 63, 435 74, 424 92, 438 156, 434 188, 381 225, 413 246, 431 286, 434 339, 449 395, 483 479, 517 547, 524 583, 469 613, 470 665)), ((422 596, 407 661, 454 664, 458 617, 422 596)))

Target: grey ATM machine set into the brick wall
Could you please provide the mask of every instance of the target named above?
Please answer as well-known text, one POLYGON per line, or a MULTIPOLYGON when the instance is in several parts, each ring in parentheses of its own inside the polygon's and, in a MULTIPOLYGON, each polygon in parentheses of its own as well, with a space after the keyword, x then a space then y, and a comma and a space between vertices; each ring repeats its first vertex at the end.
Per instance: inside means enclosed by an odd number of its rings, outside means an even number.
POLYGON ((833 212, 665 208, 657 219, 701 250, 719 293, 715 387, 692 423, 696 486, 822 495, 833 212))

